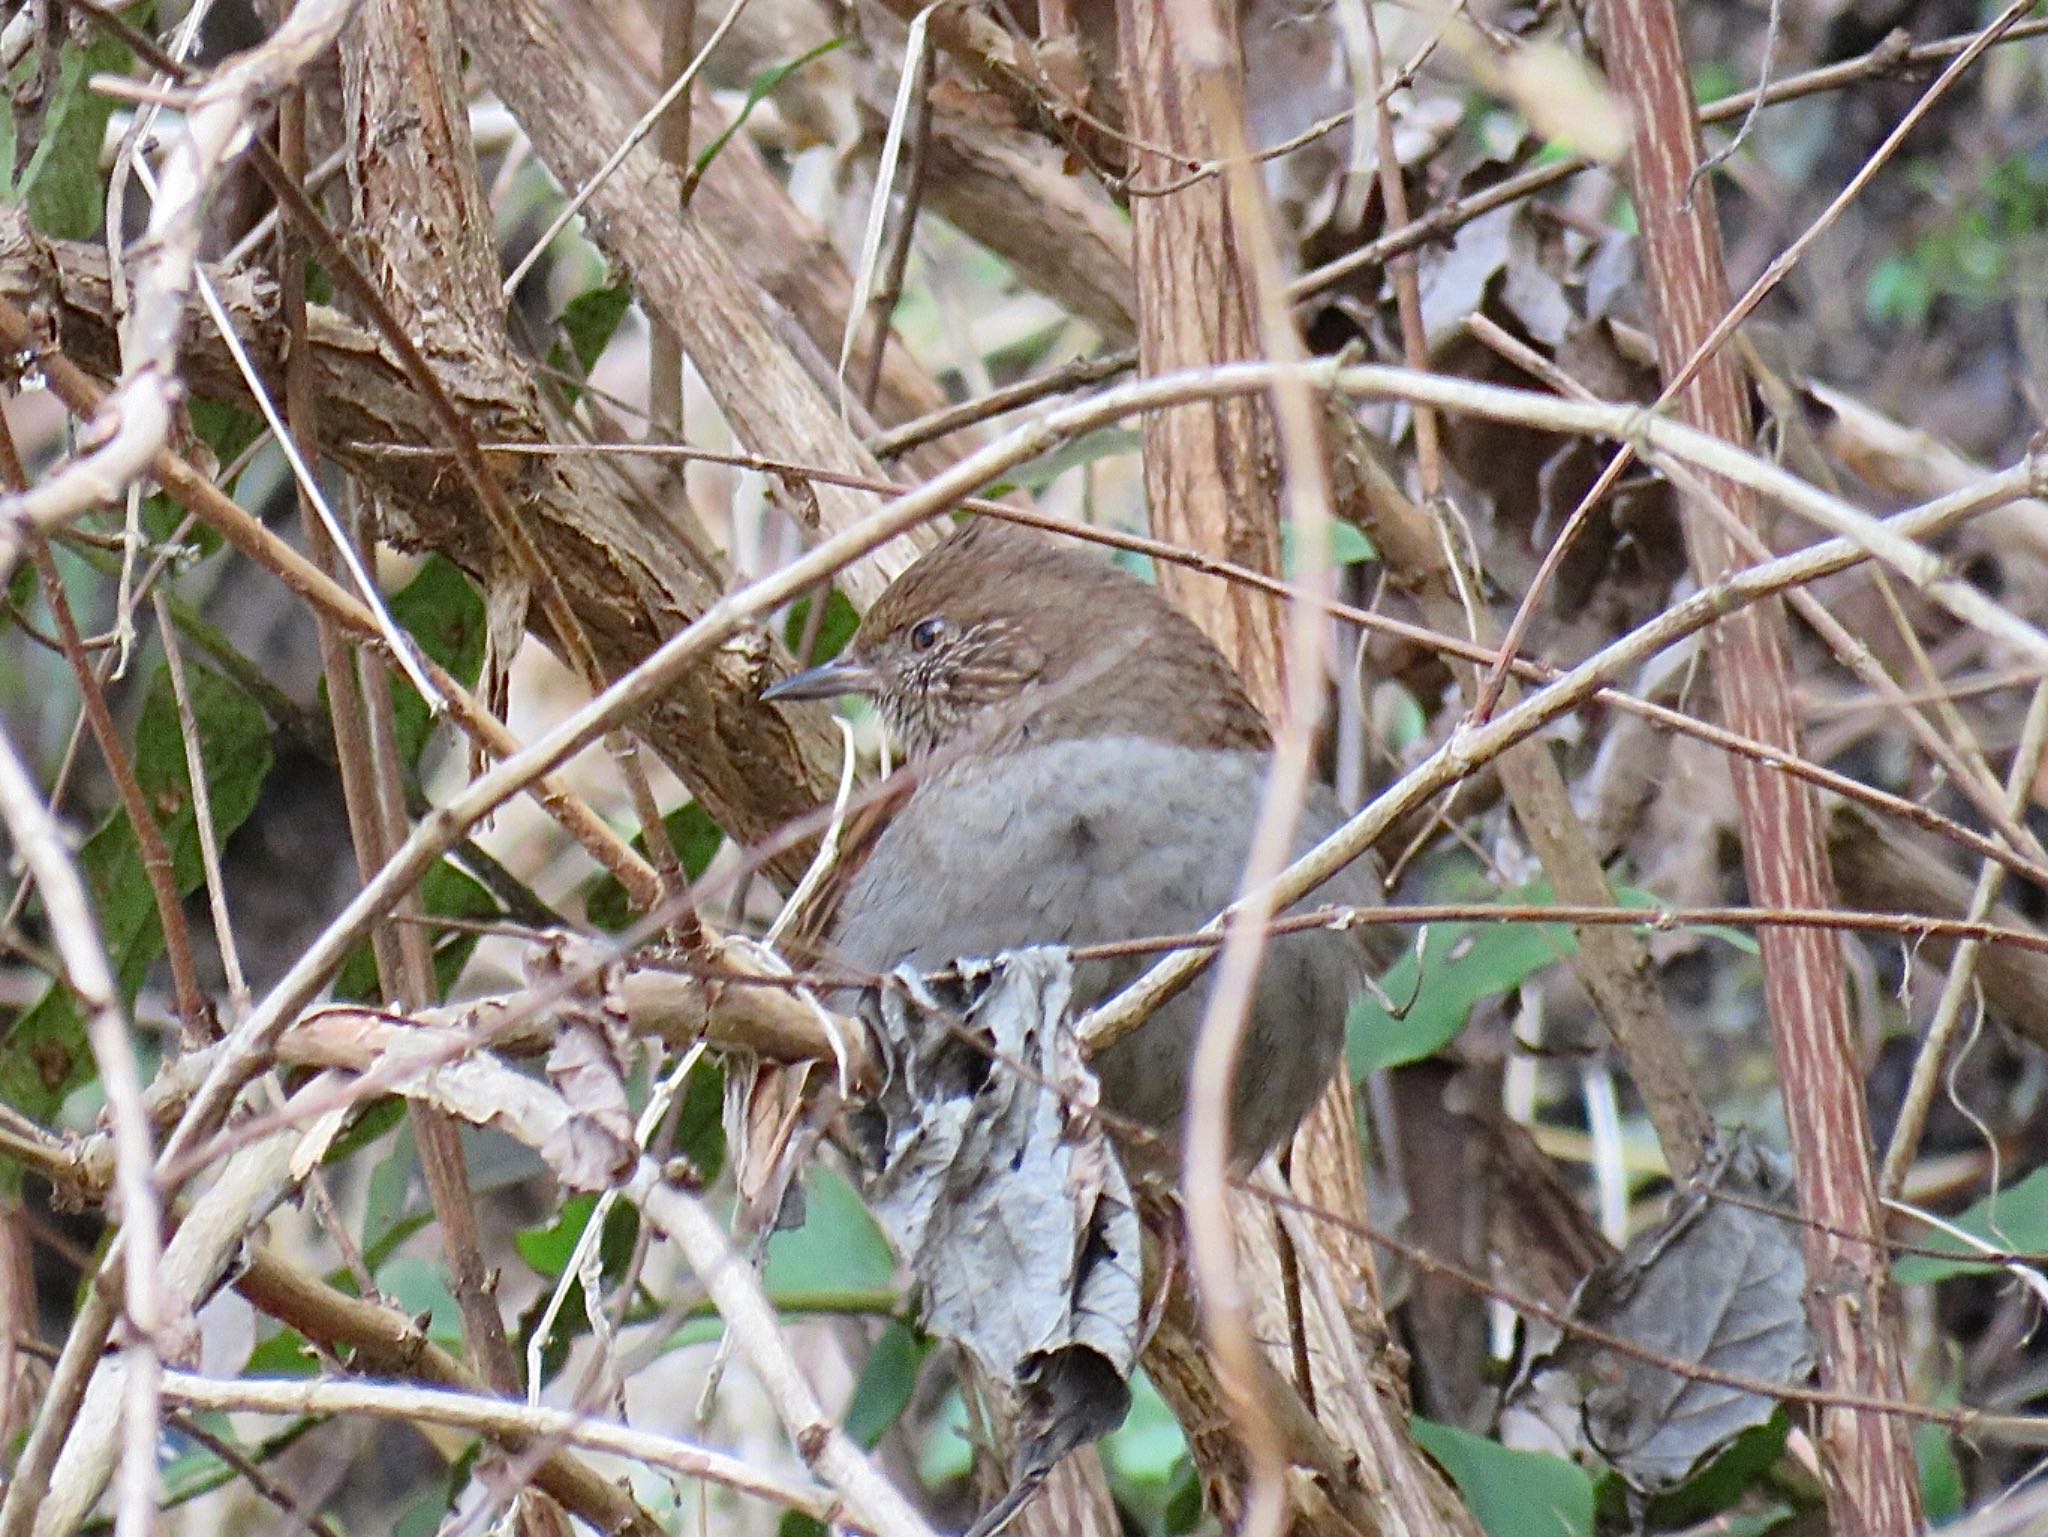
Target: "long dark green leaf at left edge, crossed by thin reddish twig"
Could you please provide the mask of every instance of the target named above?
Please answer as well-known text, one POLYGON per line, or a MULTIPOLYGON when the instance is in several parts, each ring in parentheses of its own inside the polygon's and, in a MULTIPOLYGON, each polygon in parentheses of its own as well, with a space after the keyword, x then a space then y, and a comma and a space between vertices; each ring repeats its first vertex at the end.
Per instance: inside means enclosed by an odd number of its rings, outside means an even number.
MULTIPOLYGON (((207 668, 188 668, 193 717, 207 764, 215 836, 227 836, 256 809, 256 795, 270 773, 270 728, 262 709, 242 689, 207 668)), ((184 771, 184 738, 170 691, 170 672, 150 680, 131 746, 135 779, 170 848, 180 894, 199 889, 203 865, 193 783, 184 771)), ((123 1004, 133 1004, 150 967, 164 953, 164 928, 141 865, 135 830, 113 814, 80 850, 92 891, 106 957, 113 961, 123 1004)), ((229 902, 231 902, 229 894, 229 902)), ((49 1121, 66 1096, 92 1074, 84 1019, 61 986, 51 986, 0 1043, 0 1100, 23 1115, 49 1121)))

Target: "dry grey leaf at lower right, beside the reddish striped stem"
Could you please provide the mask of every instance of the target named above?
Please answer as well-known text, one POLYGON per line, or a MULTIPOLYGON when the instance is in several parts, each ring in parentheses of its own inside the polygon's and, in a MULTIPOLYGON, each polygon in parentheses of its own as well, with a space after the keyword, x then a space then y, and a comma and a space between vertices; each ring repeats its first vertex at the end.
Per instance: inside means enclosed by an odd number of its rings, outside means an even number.
MULTIPOLYGON (((1573 1316, 1675 1361, 1804 1381, 1815 1357, 1798 1230, 1737 1201, 1792 1207, 1784 1160, 1747 1131, 1726 1139, 1655 1232, 1585 1279, 1573 1316)), ((1677 1488, 1776 1408, 1763 1394, 1665 1371, 1581 1336, 1567 1336, 1546 1365, 1575 1379, 1585 1443, 1642 1494, 1677 1488)))

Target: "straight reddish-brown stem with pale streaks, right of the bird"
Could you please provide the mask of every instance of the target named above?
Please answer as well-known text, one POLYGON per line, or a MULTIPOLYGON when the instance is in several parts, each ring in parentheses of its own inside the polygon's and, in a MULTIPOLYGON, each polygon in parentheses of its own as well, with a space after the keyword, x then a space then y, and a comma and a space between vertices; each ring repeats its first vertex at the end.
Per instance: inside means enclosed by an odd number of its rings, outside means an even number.
MULTIPOLYGON (((1632 121, 1630 176, 1642 221, 1649 289, 1657 301, 1657 352, 1677 375, 1729 307, 1720 232, 1708 182, 1694 184, 1700 129, 1669 0, 1604 0, 1612 80, 1632 121)), ((1731 443, 1749 441, 1749 396, 1731 352, 1716 350, 1679 396, 1686 420, 1731 443)), ((1706 477, 1708 494, 1749 525, 1751 492, 1706 477)), ((1714 582, 1745 566, 1729 531, 1698 496, 1686 498, 1694 572, 1714 582)), ((1729 723, 1798 752, 1800 732, 1784 615, 1757 605, 1712 631, 1714 684, 1729 723)), ((1747 760, 1731 764, 1743 824, 1743 865, 1761 906, 1825 908, 1835 902, 1812 793, 1747 760)), ((1855 1060, 1841 943, 1833 934, 1769 928, 1761 937, 1763 994, 1792 1107, 1792 1162, 1804 1230, 1808 1316, 1829 1391, 1901 1398, 1905 1371, 1880 1250, 1839 1234, 1880 1232, 1870 1123, 1855 1060)), ((1921 1527, 1909 1428, 1886 1414, 1837 1408, 1821 1418, 1821 1473, 1829 1517, 1841 1531, 1907 1537, 1921 1527)))

